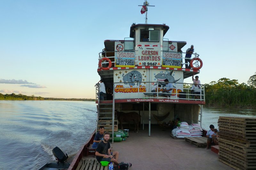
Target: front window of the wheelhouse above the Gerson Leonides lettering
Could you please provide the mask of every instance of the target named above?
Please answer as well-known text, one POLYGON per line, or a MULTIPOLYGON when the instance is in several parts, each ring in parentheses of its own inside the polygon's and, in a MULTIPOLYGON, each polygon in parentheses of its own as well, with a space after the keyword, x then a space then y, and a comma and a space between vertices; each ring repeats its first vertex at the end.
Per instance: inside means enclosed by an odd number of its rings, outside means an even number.
POLYGON ((159 42, 159 30, 140 30, 140 41, 159 42))

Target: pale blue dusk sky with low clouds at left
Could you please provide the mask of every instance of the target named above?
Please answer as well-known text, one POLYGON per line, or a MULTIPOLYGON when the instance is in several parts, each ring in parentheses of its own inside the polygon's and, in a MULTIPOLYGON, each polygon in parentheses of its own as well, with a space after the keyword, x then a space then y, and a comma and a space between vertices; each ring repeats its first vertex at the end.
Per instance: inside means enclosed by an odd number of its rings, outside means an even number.
MULTIPOLYGON (((144 1, 0 0, 0 93, 95 98, 104 40, 123 40, 144 24, 144 1)), ((256 1, 150 0, 148 24, 186 41, 203 61, 202 84, 247 83, 256 72, 256 1)), ((191 78, 184 80, 192 83, 191 78)))

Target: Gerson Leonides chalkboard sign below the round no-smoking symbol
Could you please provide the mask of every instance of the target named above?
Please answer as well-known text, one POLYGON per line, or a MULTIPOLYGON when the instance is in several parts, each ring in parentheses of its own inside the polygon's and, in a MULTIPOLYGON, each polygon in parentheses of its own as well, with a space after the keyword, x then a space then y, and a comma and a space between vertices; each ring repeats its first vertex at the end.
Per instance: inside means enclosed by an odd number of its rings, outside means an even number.
POLYGON ((116 67, 135 67, 134 52, 116 52, 115 55, 116 67))

